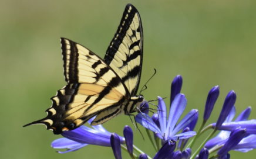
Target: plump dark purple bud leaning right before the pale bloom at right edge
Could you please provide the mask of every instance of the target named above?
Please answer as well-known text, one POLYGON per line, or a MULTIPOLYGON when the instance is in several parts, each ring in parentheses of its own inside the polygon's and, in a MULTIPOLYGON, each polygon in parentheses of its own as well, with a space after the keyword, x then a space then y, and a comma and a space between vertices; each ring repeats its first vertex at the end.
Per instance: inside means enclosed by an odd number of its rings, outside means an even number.
POLYGON ((227 142, 223 147, 218 151, 218 155, 223 156, 228 153, 228 151, 232 150, 237 144, 244 138, 246 135, 246 130, 237 128, 233 130, 228 138, 227 142))

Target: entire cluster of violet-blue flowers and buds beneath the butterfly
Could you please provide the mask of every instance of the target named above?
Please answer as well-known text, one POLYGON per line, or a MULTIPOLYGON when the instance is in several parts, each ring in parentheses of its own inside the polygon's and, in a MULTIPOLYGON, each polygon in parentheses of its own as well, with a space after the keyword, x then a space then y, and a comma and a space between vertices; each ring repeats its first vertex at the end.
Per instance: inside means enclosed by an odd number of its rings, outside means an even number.
MULTIPOLYGON (((153 158, 226 159, 230 158, 229 151, 231 150, 245 153, 256 148, 256 119, 248 120, 251 107, 245 109, 234 119, 234 104, 236 100, 234 91, 228 92, 216 123, 206 126, 220 94, 218 86, 213 87, 208 93, 203 122, 197 132, 194 131, 198 119, 197 109, 190 110, 187 115, 180 119, 187 105, 185 95, 180 94, 182 82, 181 75, 177 75, 171 84, 171 104, 168 116, 163 98, 158 97, 157 113, 153 113, 150 116, 149 106, 146 102, 142 104, 142 112, 135 117, 136 122, 146 128, 151 144, 156 150, 153 158), (198 140, 200 135, 208 130, 211 130, 211 132, 208 133, 209 135, 206 139, 203 141, 201 139, 198 140), (219 133, 213 137, 217 131, 219 133), (193 148, 196 141, 199 141, 201 145, 193 148), (192 148, 195 150, 192 151, 192 148)), ((89 123, 92 120, 90 119, 89 123)), ((134 146, 133 131, 129 126, 125 126, 123 129, 124 137, 108 132, 102 125, 80 126, 78 129, 63 132, 62 136, 64 137, 52 142, 53 148, 68 149, 66 151, 58 151, 59 153, 68 153, 88 144, 95 144, 112 147, 115 158, 122 158, 121 149, 126 150, 131 158, 151 158, 134 146)))

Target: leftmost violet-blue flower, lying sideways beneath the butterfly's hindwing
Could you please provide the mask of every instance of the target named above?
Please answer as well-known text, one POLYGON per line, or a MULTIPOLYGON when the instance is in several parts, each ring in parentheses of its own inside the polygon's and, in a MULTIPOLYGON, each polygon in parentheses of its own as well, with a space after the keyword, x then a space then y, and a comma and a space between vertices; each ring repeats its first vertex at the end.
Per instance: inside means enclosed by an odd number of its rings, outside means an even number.
MULTIPOLYGON (((88 122, 92 122, 90 119, 88 122)), ((75 130, 66 131, 62 133, 63 138, 54 140, 52 142, 53 148, 68 148, 67 151, 58 151, 59 153, 68 153, 70 151, 76 151, 88 144, 95 144, 99 146, 111 146, 110 136, 112 133, 108 132, 102 125, 92 126, 80 126, 75 130)), ((124 137, 119 136, 119 139, 124 143, 124 137)))

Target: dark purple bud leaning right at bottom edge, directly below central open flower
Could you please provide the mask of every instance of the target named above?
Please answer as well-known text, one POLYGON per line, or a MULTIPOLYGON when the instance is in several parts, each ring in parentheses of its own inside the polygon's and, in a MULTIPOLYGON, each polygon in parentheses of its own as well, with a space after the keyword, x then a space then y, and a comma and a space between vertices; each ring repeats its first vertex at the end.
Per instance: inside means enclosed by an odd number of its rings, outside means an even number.
POLYGON ((171 156, 174 148, 176 147, 176 143, 173 141, 167 141, 154 156, 154 159, 165 159, 171 156))

